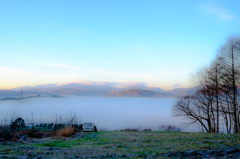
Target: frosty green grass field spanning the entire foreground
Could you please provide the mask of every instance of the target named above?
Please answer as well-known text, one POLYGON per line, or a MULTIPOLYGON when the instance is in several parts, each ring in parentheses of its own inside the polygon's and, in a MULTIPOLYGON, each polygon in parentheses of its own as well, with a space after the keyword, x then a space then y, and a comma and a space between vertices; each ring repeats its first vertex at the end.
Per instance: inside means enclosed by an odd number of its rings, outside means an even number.
POLYGON ((240 156, 240 134, 166 131, 82 132, 71 137, 2 142, 0 157, 191 157, 240 156))

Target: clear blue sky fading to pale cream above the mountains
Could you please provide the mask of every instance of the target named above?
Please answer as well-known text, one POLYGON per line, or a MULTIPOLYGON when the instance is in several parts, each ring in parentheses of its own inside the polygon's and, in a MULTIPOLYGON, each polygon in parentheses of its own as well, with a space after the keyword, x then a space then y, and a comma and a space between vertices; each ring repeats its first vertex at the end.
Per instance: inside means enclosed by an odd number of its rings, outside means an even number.
POLYGON ((231 35, 240 1, 0 1, 0 89, 70 81, 189 87, 231 35))

